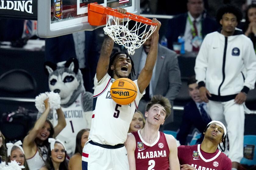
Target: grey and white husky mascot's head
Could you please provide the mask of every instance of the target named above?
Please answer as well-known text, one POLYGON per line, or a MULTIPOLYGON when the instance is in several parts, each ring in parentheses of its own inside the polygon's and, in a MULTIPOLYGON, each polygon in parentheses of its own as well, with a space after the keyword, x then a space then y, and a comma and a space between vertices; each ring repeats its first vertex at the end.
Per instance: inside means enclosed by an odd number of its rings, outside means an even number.
POLYGON ((44 70, 49 76, 50 90, 59 93, 62 107, 71 105, 85 91, 83 75, 76 58, 57 64, 47 61, 44 63, 44 70))

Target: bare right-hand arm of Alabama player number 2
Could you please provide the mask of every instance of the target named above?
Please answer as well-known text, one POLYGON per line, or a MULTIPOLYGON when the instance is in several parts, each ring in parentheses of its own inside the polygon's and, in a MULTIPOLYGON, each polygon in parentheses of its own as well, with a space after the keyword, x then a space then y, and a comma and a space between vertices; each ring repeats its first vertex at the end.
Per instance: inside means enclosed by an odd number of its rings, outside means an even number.
POLYGON ((169 154, 170 169, 171 170, 180 169, 176 140, 172 135, 165 134, 165 137, 168 143, 168 147, 170 149, 170 154, 169 154))

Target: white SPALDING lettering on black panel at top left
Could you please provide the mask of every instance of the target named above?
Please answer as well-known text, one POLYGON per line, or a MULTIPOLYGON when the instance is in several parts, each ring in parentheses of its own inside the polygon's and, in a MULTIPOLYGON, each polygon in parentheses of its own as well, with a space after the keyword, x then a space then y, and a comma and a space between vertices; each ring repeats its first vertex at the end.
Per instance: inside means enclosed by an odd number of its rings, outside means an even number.
POLYGON ((32 13, 32 0, 29 1, 4 1, 1 0, 0 9, 13 9, 15 11, 26 11, 27 13, 32 13))

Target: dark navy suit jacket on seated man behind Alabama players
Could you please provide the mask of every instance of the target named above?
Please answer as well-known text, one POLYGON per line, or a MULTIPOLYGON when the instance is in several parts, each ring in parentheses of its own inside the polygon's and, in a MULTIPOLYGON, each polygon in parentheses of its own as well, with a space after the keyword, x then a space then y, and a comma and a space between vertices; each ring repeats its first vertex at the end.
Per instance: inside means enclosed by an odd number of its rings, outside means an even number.
MULTIPOLYGON (((176 139, 180 141, 181 145, 186 145, 187 135, 189 134, 191 127, 196 127, 203 134, 208 123, 203 121, 196 103, 192 100, 184 107, 180 131, 178 132, 176 139)), ((204 135, 202 135, 201 140, 203 138, 204 135)))

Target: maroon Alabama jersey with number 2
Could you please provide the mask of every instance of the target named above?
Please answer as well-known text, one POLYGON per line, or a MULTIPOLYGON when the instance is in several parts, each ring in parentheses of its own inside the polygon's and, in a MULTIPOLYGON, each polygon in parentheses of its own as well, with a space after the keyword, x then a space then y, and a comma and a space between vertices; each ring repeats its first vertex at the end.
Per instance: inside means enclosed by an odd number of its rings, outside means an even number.
POLYGON ((135 161, 138 170, 168 170, 169 147, 163 132, 158 131, 154 143, 148 144, 141 135, 140 130, 132 132, 136 140, 135 161))

